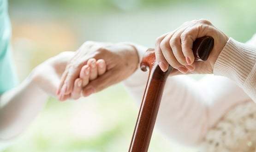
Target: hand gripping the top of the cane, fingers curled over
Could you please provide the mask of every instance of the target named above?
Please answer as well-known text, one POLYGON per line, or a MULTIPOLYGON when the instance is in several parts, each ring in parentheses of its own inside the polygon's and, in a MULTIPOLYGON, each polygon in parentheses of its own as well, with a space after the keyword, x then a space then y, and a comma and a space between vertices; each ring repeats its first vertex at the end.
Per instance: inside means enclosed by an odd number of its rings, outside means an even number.
POLYGON ((170 64, 181 73, 212 74, 214 63, 228 37, 209 21, 200 19, 186 22, 178 29, 162 35, 155 42, 155 56, 161 70, 166 71, 170 64), (194 61, 192 51, 196 38, 212 36, 214 47, 205 62, 194 61))

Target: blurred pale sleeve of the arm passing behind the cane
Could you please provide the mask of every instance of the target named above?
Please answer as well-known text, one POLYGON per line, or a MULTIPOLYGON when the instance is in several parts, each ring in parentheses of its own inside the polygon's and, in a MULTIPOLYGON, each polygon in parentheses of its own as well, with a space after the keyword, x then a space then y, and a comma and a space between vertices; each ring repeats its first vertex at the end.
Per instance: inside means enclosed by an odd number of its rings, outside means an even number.
MULTIPOLYGON (((148 72, 138 69, 124 82, 137 103, 141 103, 147 79, 148 72)), ((189 76, 169 77, 156 129, 182 144, 197 145, 229 108, 246 100, 250 98, 243 90, 225 77, 206 76, 201 81, 189 76)))

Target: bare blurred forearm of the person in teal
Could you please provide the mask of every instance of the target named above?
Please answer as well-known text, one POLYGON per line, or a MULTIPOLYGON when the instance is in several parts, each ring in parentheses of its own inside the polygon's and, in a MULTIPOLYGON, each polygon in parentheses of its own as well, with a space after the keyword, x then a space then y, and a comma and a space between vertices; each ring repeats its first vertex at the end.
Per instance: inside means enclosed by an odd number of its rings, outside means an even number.
POLYGON ((0 96, 0 140, 20 134, 37 116, 48 95, 36 86, 33 76, 0 96))

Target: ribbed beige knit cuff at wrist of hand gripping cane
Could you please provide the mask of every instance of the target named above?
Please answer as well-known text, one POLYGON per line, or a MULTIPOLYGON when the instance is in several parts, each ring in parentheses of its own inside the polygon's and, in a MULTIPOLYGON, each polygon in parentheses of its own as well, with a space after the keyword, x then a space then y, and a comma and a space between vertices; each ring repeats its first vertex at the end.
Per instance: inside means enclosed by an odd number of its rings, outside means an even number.
POLYGON ((243 86, 256 64, 255 51, 255 47, 229 38, 214 64, 214 74, 226 76, 243 86))

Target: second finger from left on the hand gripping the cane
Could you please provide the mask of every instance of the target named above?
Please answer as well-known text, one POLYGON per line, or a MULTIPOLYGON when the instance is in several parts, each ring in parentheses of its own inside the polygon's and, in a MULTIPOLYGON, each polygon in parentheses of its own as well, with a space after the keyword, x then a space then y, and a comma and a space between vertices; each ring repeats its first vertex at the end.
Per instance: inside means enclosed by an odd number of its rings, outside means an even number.
POLYGON ((170 64, 173 68, 178 69, 182 73, 187 73, 187 69, 185 66, 180 64, 173 54, 173 50, 170 47, 169 40, 171 39, 173 34, 169 34, 166 38, 161 42, 160 48, 164 58, 167 60, 168 64, 170 64))

